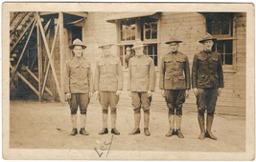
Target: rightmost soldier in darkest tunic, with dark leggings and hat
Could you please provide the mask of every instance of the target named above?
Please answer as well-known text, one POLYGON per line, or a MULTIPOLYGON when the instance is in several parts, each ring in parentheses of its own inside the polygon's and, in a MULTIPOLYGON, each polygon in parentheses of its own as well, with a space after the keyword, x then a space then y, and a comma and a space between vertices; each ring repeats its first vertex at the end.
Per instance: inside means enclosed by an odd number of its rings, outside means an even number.
POLYGON ((224 84, 221 55, 212 51, 212 46, 216 40, 211 34, 206 33, 199 40, 199 43, 203 46, 203 51, 195 54, 193 61, 192 88, 197 96, 199 139, 209 137, 217 140, 217 137, 212 133, 212 125, 218 95, 221 94, 224 84), (204 124, 205 111, 207 111, 206 131, 204 124))

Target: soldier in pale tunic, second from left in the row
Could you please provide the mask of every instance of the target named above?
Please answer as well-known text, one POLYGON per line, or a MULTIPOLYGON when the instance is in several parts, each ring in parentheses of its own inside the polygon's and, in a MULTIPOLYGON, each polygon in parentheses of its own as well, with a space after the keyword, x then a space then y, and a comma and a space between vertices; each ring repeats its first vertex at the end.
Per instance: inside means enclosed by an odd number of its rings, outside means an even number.
POLYGON ((113 44, 104 42, 100 49, 103 56, 97 60, 95 68, 94 89, 103 108, 103 130, 99 134, 108 133, 108 107, 111 113, 111 133, 119 135, 116 129, 117 104, 123 90, 123 70, 120 59, 111 55, 113 44))

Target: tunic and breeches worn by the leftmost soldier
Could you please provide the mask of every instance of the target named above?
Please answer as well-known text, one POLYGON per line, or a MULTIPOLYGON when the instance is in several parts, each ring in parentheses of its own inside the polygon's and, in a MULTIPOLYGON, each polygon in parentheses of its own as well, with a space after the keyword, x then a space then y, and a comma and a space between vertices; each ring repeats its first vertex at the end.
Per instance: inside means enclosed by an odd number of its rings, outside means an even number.
POLYGON ((76 114, 80 107, 81 114, 85 114, 89 104, 88 92, 93 92, 93 78, 90 64, 84 57, 72 57, 66 61, 64 82, 64 92, 71 93, 71 113, 76 114))

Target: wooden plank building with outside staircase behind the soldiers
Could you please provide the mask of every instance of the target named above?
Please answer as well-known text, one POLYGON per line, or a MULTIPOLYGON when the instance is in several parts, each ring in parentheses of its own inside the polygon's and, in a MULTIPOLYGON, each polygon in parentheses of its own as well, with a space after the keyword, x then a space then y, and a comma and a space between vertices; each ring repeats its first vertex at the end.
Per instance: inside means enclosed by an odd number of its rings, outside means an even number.
MULTIPOLYGON (((35 96, 39 100, 52 98, 63 101, 63 65, 65 60, 72 56, 68 45, 75 38, 80 38, 87 46, 87 49, 84 50, 84 57, 91 62, 92 68, 95 67, 97 58, 102 55, 102 51, 98 49, 99 44, 102 41, 115 43, 116 46, 112 48, 112 53, 120 57, 125 78, 127 78, 125 49, 132 47, 136 38, 140 38, 147 44, 145 53, 154 60, 158 76, 161 57, 168 52, 165 42, 170 35, 175 35, 183 41, 179 50, 188 55, 192 66, 194 55, 202 50, 198 40, 207 31, 218 38, 214 45, 214 51, 221 53, 224 71, 224 89, 219 97, 216 112, 245 115, 246 13, 28 12, 24 17, 23 14, 25 12, 11 13, 12 96, 18 93, 21 93, 22 96, 24 93, 26 95, 36 93, 35 96), (18 16, 20 17, 18 18, 18 16), (22 29, 23 24, 19 20, 24 19, 25 21, 26 17, 31 18, 32 22, 25 27, 28 30, 23 36, 24 40, 15 45, 15 41, 18 41, 16 35, 22 35, 19 27, 22 29), (15 27, 15 25, 18 26, 15 27), (34 30, 30 36, 31 28, 34 30), (26 40, 29 40, 28 45, 26 45, 26 40), (25 45, 27 48, 24 48, 25 45), (20 61, 19 58, 21 58, 20 61), (17 71, 14 72, 15 70, 17 71), (24 87, 24 83, 27 86, 24 87), (26 87, 30 88, 25 90, 26 87)), ((124 88, 127 89, 126 79, 124 88)), ((190 98, 184 104, 184 111, 197 111, 196 97, 192 91, 190 93, 190 98)), ((121 98, 122 105, 129 106, 130 99, 126 96, 125 91, 123 96, 121 98)), ((165 108, 164 99, 158 88, 157 77, 152 109, 165 108)))

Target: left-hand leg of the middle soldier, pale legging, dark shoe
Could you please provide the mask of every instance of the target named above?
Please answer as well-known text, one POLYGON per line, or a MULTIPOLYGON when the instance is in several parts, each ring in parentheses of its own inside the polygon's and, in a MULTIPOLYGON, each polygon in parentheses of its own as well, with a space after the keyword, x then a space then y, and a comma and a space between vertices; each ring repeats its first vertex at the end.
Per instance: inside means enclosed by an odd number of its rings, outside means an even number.
POLYGON ((134 129, 129 134, 140 133, 140 119, 141 119, 141 94, 140 92, 131 92, 131 100, 134 111, 134 129))

